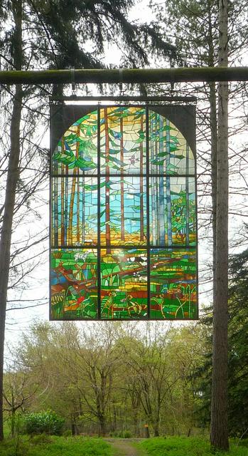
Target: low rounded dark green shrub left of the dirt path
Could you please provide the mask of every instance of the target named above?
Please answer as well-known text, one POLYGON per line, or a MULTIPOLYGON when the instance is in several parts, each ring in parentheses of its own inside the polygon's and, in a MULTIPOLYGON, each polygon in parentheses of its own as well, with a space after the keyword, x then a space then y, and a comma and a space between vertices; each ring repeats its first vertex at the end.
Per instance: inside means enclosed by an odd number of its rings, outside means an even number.
POLYGON ((25 416, 26 433, 34 434, 50 434, 61 435, 63 430, 64 419, 58 416, 55 412, 48 410, 47 412, 28 413, 25 416))

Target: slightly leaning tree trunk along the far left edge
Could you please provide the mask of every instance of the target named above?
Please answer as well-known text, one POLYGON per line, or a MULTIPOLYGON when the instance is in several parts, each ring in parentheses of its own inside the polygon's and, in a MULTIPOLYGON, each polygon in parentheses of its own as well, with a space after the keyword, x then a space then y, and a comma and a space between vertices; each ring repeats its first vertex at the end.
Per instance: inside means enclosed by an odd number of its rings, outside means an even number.
MULTIPOLYGON (((13 37, 14 65, 21 70, 22 63, 22 2, 12 1, 15 23, 13 37)), ((16 199, 16 187, 19 177, 20 159, 20 123, 21 123, 22 88, 16 85, 13 111, 11 117, 11 145, 9 152, 9 167, 7 173, 6 193, 4 202, 4 217, 1 227, 0 240, 0 440, 4 438, 3 423, 3 377, 4 377, 4 331, 6 320, 6 302, 9 282, 9 264, 11 256, 11 232, 16 199)))

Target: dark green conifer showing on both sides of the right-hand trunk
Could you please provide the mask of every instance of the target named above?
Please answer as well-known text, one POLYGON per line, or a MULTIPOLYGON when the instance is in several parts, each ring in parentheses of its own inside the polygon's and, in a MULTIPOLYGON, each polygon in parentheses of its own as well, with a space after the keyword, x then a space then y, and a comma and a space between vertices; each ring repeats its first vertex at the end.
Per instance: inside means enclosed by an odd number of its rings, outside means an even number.
MULTIPOLYGON (((247 226, 244 225, 244 235, 247 226)), ((247 414, 247 270, 248 252, 230 256, 230 282, 228 306, 228 433, 246 438, 248 433, 247 414)), ((193 366, 192 375, 198 383, 199 397, 195 403, 195 416, 210 424, 211 375, 212 375, 212 311, 208 307, 204 318, 203 358, 193 366)))

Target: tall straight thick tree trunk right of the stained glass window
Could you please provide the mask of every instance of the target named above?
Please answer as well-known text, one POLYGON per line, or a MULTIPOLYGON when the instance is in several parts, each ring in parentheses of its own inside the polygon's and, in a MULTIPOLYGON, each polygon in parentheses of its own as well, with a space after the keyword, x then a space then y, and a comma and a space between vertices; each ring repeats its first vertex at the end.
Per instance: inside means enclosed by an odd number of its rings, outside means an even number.
MULTIPOLYGON (((219 1, 219 66, 227 66, 227 0, 219 1)), ((211 444, 228 450, 228 85, 218 88, 216 288, 213 312, 211 444)))

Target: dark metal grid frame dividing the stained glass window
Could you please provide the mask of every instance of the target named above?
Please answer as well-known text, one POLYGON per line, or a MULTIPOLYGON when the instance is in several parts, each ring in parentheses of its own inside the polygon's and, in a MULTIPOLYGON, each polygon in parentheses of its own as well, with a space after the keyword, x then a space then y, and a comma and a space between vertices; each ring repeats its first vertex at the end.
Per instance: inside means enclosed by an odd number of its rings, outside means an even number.
MULTIPOLYGON (((95 97, 89 97, 90 100, 92 99, 95 99, 95 97)), ((80 100, 88 100, 89 98, 81 98, 80 97, 80 100)), ((105 98, 105 97, 104 97, 105 98)), ((63 98, 64 100, 72 100, 72 98, 69 98, 69 97, 64 97, 63 98)), ((60 100, 63 100, 63 99, 60 99, 60 100)), ((77 99, 77 98, 73 98, 73 99, 77 99)), ((98 99, 98 98, 97 98, 98 99)), ((116 98, 114 98, 116 99, 116 98)), ((120 100, 123 100, 123 98, 119 98, 120 100)), ((190 100, 188 100, 188 97, 179 97, 180 99, 180 102, 182 102, 183 100, 185 101, 186 106, 188 105, 189 102, 195 102, 195 98, 191 98, 190 100)), ((109 98, 107 98, 107 100, 109 100, 109 98)), ((133 100, 133 99, 132 99, 133 100)), ((161 98, 160 98, 161 100, 161 98)), ((127 101, 127 100, 125 100, 127 101)), ((97 105, 89 105, 89 106, 86 106, 86 105, 82 105, 81 108, 89 108, 89 110, 87 112, 91 112, 91 110, 93 108, 95 108, 95 110, 97 110, 97 174, 90 174, 90 173, 87 173, 87 174, 81 174, 81 175, 77 175, 77 178, 84 178, 84 177, 94 177, 95 179, 97 179, 97 246, 96 245, 87 245, 87 246, 76 246, 76 245, 66 245, 66 246, 63 246, 63 245, 51 245, 51 225, 52 225, 52 181, 53 181, 53 177, 57 178, 57 177, 61 177, 61 178, 68 178, 68 177, 73 177, 72 174, 63 174, 63 175, 60 175, 60 174, 53 174, 53 167, 52 167, 52 154, 53 154, 53 150, 51 149, 50 150, 50 252, 52 249, 73 249, 73 250, 90 250, 90 249, 95 249, 97 250, 97 318, 76 318, 75 321, 97 321, 97 320, 100 320, 100 321, 168 321, 168 320, 165 320, 163 318, 150 318, 150 294, 151 294, 151 278, 150 278, 150 272, 151 272, 151 267, 150 267, 150 254, 151 254, 151 249, 161 249, 161 250, 168 250, 168 251, 175 251, 175 250, 182 250, 182 251, 195 251, 195 261, 196 261, 196 271, 197 271, 197 274, 196 274, 196 285, 197 285, 197 289, 198 289, 198 229, 197 229, 197 224, 198 224, 198 221, 197 221, 197 188, 196 188, 196 160, 195 160, 195 172, 194 174, 182 174, 182 175, 171 175, 171 174, 168 174, 168 173, 152 173, 150 172, 150 167, 149 167, 149 110, 153 110, 153 108, 158 108, 158 107, 161 107, 161 106, 164 106, 165 103, 163 102, 163 100, 161 100, 163 103, 162 104, 153 104, 153 103, 150 103, 149 100, 146 98, 146 103, 143 103, 141 104, 140 103, 140 98, 139 100, 139 104, 136 104, 136 103, 125 103, 125 104, 118 104, 118 105, 109 105, 109 104, 100 104, 98 103, 97 105), (114 106, 117 106, 117 107, 122 107, 122 108, 137 108, 137 107, 140 107, 140 108, 145 108, 146 110, 146 173, 143 175, 141 173, 135 173, 135 174, 122 174, 124 176, 129 176, 129 177, 145 177, 146 178, 146 244, 130 244, 129 246, 128 245, 103 245, 103 244, 100 244, 100 179, 101 177, 106 177, 106 173, 103 173, 101 172, 101 162, 100 162, 100 153, 101 153, 101 147, 100 147, 100 110, 104 109, 104 108, 113 108, 114 106), (170 247, 166 246, 165 245, 151 245, 151 242, 150 242, 150 207, 149 207, 149 201, 150 201, 150 195, 149 195, 149 183, 150 183, 150 178, 151 177, 173 177, 173 178, 177 178, 177 177, 185 177, 185 183, 187 185, 187 182, 188 182, 188 179, 189 177, 193 177, 195 179, 195 227, 196 227, 196 242, 195 242, 195 245, 187 245, 185 243, 185 245, 183 244, 176 244, 176 245, 171 245, 170 247), (143 249, 147 252, 147 316, 146 317, 141 317, 141 318, 101 318, 101 294, 100 294, 100 291, 101 291, 101 280, 100 280, 100 277, 101 277, 101 250, 102 249, 106 249, 107 247, 111 248, 112 250, 114 249, 126 249, 126 250, 129 250, 129 249, 143 249)), ((153 99, 151 98, 151 101, 153 101, 153 99)), ((157 101, 157 100, 156 100, 157 101)), ((166 97, 166 101, 171 101, 171 98, 170 97, 166 97)), ((57 105, 58 106, 58 105, 57 105)), ((74 106, 74 105, 72 105, 74 106)), ((78 105, 75 105, 77 106, 78 108, 78 105)), ((74 106, 74 107, 75 107, 74 106)), ((182 108, 181 105, 178 105, 178 100, 176 100, 176 104, 166 104, 166 107, 167 108, 170 108, 170 107, 173 107, 175 108, 175 106, 179 109, 179 108, 182 108)), ((185 106, 185 105, 183 105, 185 106)), ((192 105, 191 105, 192 106, 192 105)), ((71 105, 70 105, 71 107, 71 105)), ((80 107, 79 107, 80 108, 80 107)), ((66 109, 66 105, 65 105, 65 109, 66 109)), ((154 111, 153 111, 154 112, 154 111)), ((164 117, 166 117, 166 115, 163 115, 164 117)), ((74 123, 75 120, 72 120, 71 124, 74 123)), ((172 121, 173 122, 173 121, 172 121)), ((173 122, 174 123, 174 122, 173 122)), ((51 111, 50 111, 50 125, 52 124, 52 115, 51 115, 51 111)), ((63 132, 65 133, 65 131, 63 132)), ((50 144, 52 145, 52 129, 50 129, 50 144)), ((184 136, 184 135, 183 135, 184 136)), ((185 138, 185 136, 184 136, 185 138)), ((187 138, 185 138, 187 144, 188 144, 188 141, 187 141, 187 138)), ((194 153, 194 156, 195 156, 195 150, 193 150, 193 153, 194 153)), ((109 177, 120 177, 121 174, 117 174, 117 173, 111 173, 109 172, 108 174, 109 177)), ((51 267, 50 267, 50 270, 51 270, 51 267)), ((51 286, 50 286, 50 289, 51 289, 51 286)), ((198 301, 198 293, 197 293, 197 301, 198 301)), ((50 320, 54 320, 54 321, 66 321, 66 318, 51 318, 51 296, 50 296, 50 320)), ((195 319, 198 319, 198 316, 197 318, 195 319)), ((169 321, 193 321, 192 318, 176 318, 176 319, 170 319, 169 321)), ((74 320, 72 320, 74 321, 74 320)))

